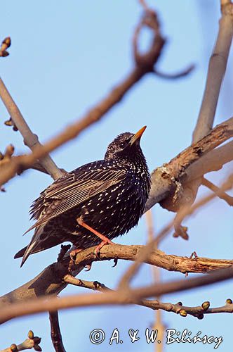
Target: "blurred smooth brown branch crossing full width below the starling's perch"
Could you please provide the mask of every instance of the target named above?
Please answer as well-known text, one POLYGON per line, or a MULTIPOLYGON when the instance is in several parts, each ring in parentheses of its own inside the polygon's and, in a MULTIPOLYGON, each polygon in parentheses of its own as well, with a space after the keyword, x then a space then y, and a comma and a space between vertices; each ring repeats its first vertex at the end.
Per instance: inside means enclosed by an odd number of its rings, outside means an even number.
POLYGON ((182 279, 179 281, 166 282, 160 285, 154 284, 149 287, 140 287, 137 289, 128 289, 127 291, 107 291, 101 294, 83 294, 66 297, 50 297, 37 298, 36 300, 20 303, 12 303, 11 306, 1 308, 0 322, 30 315, 34 313, 42 313, 46 311, 54 311, 60 309, 84 307, 84 306, 103 306, 103 305, 119 305, 132 304, 132 301, 151 296, 161 296, 162 294, 171 294, 173 292, 185 291, 197 287, 206 286, 215 282, 221 282, 226 279, 232 279, 233 268, 218 270, 213 274, 195 277, 192 279, 182 279))

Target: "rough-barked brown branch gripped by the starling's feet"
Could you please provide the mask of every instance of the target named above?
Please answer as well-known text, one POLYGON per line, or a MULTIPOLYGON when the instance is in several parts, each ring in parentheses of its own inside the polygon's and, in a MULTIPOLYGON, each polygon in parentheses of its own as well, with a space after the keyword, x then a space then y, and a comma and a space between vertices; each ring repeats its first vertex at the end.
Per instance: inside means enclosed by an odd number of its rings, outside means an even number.
MULTIPOLYGON (((100 258, 102 260, 111 260, 114 258, 124 260, 135 260, 140 249, 145 246, 123 246, 115 244, 114 246, 104 246, 100 250, 100 258)), ((75 276, 84 268, 84 265, 89 265, 96 261, 94 254, 95 247, 81 251, 76 256, 76 269, 72 272, 75 276)), ((0 297, 0 308, 5 305, 12 304, 18 301, 27 301, 28 299, 38 298, 39 296, 48 296, 58 294, 67 286, 63 278, 67 275, 69 259, 64 259, 59 263, 53 263, 43 270, 34 279, 15 289, 8 294, 0 297)), ((205 273, 218 270, 220 268, 231 268, 232 260, 225 259, 208 259, 178 257, 167 255, 162 251, 153 251, 146 263, 159 266, 169 271, 196 272, 205 273)))

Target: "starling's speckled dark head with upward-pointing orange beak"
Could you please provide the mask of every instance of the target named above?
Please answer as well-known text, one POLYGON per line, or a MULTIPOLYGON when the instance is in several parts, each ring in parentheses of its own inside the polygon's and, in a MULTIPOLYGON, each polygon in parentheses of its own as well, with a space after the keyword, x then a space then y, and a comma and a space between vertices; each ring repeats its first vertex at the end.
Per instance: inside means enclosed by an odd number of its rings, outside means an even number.
POLYGON ((124 132, 119 134, 107 147, 105 159, 124 158, 142 153, 140 138, 147 126, 142 127, 137 133, 124 132))

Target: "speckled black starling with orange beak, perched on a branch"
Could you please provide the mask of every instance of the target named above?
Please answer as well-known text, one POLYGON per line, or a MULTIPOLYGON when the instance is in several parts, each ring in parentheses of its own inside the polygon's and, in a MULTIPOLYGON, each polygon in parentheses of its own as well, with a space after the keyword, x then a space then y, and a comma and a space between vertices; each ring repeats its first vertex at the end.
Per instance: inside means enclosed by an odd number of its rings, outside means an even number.
POLYGON ((21 266, 30 254, 67 241, 78 250, 97 246, 98 256, 102 246, 138 225, 151 186, 140 147, 145 129, 119 134, 102 160, 65 173, 41 192, 30 210, 32 240, 14 257, 22 257, 21 266))

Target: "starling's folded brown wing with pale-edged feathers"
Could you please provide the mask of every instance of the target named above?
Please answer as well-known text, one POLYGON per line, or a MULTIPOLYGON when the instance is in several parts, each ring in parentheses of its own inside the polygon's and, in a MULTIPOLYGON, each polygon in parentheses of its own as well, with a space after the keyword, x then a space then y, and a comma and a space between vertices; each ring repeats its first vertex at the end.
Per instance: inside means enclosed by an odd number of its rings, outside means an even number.
POLYGON ((30 213, 37 222, 27 232, 88 201, 96 194, 124 180, 126 175, 126 170, 114 168, 94 170, 79 168, 63 175, 45 189, 32 204, 30 213))

